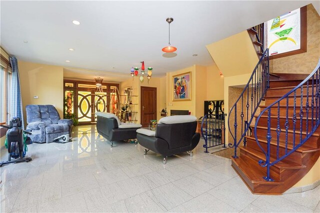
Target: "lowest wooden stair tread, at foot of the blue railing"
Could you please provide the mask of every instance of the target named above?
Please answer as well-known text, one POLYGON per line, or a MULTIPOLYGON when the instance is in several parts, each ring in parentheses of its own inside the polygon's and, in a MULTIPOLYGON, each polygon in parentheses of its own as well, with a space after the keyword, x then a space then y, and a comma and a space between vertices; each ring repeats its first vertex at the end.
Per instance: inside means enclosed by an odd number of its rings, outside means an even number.
MULTIPOLYGON (((250 180, 252 184, 266 184, 266 185, 282 185, 282 181, 274 181, 274 182, 268 182, 265 181, 262 177, 265 176, 265 172, 262 170, 262 167, 256 163, 256 164, 249 164, 251 162, 243 160, 242 158, 232 158, 232 162, 241 170, 243 175, 246 176, 247 179, 250 180), (250 168, 250 169, 247 169, 250 168)), ((242 178, 242 176, 240 175, 242 178)), ((243 179, 243 178, 242 178, 243 179)))

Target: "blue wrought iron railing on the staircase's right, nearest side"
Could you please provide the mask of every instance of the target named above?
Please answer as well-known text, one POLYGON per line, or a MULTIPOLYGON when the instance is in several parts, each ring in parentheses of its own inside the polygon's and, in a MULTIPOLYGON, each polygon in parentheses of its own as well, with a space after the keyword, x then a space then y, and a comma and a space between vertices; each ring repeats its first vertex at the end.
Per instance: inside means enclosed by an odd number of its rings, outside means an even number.
POLYGON ((270 177, 270 167, 283 160, 301 145, 303 145, 314 133, 320 124, 320 60, 313 72, 300 84, 291 89, 285 95, 267 106, 259 114, 254 125, 255 141, 265 155, 258 163, 266 167, 266 181, 273 181, 270 177), (285 117, 280 116, 285 113, 285 117), (257 126, 262 115, 267 114, 266 150, 261 146, 257 138, 257 126), (285 119, 285 120, 283 120, 285 119), (274 122, 275 120, 275 122, 274 122), (282 122, 281 122, 282 121, 282 122), (276 123, 276 128, 271 130, 271 123, 276 123), (275 132, 272 139, 271 131, 275 132), (288 133, 292 134, 288 138, 288 133), (284 135, 284 136, 283 136, 284 135), (283 140, 284 138, 284 140, 283 140), (276 145, 276 153, 272 153, 270 144, 276 145), (280 152, 280 147, 284 154, 280 152), (290 149, 288 149, 288 147, 290 149))

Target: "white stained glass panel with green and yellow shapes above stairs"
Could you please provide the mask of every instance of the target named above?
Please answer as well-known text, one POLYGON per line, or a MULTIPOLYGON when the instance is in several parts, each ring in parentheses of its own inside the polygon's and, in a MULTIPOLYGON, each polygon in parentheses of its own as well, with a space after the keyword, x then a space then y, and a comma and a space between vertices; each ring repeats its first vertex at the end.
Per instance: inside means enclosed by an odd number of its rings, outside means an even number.
POLYGON ((264 27, 270 56, 301 48, 300 9, 277 16, 265 22, 264 27))

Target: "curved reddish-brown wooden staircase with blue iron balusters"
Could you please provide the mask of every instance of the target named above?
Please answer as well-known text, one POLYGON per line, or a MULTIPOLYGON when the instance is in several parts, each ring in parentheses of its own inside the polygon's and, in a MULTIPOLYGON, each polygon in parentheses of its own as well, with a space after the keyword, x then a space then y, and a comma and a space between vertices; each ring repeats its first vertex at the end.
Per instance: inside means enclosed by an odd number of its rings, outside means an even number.
MULTIPOLYGON (((295 78, 294 75, 290 77, 295 78)), ((274 80, 269 81, 269 88, 258 106, 261 112, 303 81, 298 79, 279 80, 277 78, 280 78, 280 76, 277 75, 273 75, 272 78, 274 80)), ((232 167, 252 193, 282 194, 303 178, 319 158, 320 127, 316 127, 316 125, 318 125, 320 110, 318 109, 319 103, 317 103, 316 107, 314 103, 315 96, 317 96, 316 101, 320 102, 320 99, 318 99, 319 88, 317 84, 312 84, 310 81, 308 80, 305 85, 298 87, 295 90, 295 95, 289 94, 288 98, 282 99, 278 104, 269 107, 270 110, 264 111, 259 117, 252 135, 244 136, 245 146, 238 147, 240 155, 237 158, 232 158, 232 167), (308 99, 308 103, 311 103, 312 97, 313 108, 310 110, 311 107, 309 107, 309 112, 306 113, 306 99, 308 99), (302 116, 300 116, 300 106, 302 106, 302 116), (310 118, 312 113, 313 119, 310 118), (294 118, 295 122, 293 122, 294 118), (314 128, 314 131, 310 131, 312 128, 314 128), (269 144, 267 140, 268 132, 271 136, 269 144), (306 137, 308 139, 296 148, 303 141, 300 139, 306 137), (269 162, 276 162, 281 156, 292 152, 273 166, 270 166, 269 180, 264 179, 267 174, 267 167, 261 166, 267 161, 266 150, 269 150, 269 162)), ((254 118, 257 120, 257 113, 254 118)), ((254 125, 251 125, 251 128, 253 129, 254 125)))

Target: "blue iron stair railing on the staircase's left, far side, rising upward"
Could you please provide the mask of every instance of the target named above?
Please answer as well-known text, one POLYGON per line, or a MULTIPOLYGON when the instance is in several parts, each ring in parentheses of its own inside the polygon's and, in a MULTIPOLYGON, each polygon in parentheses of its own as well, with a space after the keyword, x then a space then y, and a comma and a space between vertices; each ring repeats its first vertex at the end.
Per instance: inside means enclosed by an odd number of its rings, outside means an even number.
POLYGON ((265 51, 263 52, 258 63, 255 65, 247 84, 243 88, 241 95, 238 97, 238 99, 235 101, 234 105, 231 107, 231 109, 229 111, 228 129, 229 129, 229 133, 230 133, 231 137, 233 138, 233 144, 228 143, 228 147, 230 147, 230 148, 234 147, 234 155, 232 156, 233 158, 238 158, 238 156, 236 155, 237 147, 239 146, 243 137, 246 135, 246 132, 249 129, 249 126, 250 126, 251 121, 254 117, 254 114, 255 114, 256 110, 258 109, 258 106, 259 106, 262 98, 264 97, 264 94, 265 94, 267 88, 269 88, 269 49, 265 49, 265 51), (249 91, 249 90, 251 90, 251 91, 249 91), (244 94, 245 92, 246 92, 246 94, 244 94), (250 97, 249 97, 249 93, 251 93, 250 97), (243 107, 243 98, 245 95, 246 95, 246 104, 243 107), (249 98, 251 99, 250 101, 249 101, 249 98), (239 139, 237 139, 236 111, 237 111, 237 104, 240 101, 240 99, 241 99, 241 114, 240 114, 241 137, 239 139), (245 121, 248 121, 247 125, 244 125, 244 120, 243 120, 243 118, 244 118, 243 109, 244 108, 246 108, 246 120, 245 121), (230 126, 231 126, 230 125, 230 118, 233 117, 232 116, 233 110, 234 110, 234 124, 233 124, 234 133, 232 134, 232 131, 230 129, 230 126), (249 110, 250 110, 250 115, 249 115, 249 110), (245 126, 244 129, 243 129, 243 126, 245 126))

